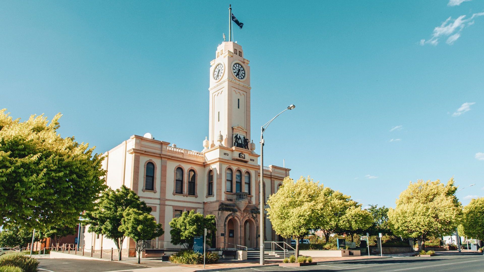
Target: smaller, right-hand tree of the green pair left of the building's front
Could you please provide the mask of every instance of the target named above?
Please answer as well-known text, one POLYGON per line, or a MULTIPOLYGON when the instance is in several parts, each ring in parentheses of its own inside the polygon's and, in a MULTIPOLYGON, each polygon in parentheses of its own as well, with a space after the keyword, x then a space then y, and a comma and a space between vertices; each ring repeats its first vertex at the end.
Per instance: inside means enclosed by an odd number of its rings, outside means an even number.
POLYGON ((123 212, 120 230, 124 231, 125 236, 135 241, 138 263, 140 263, 141 251, 143 250, 143 241, 154 239, 165 233, 163 226, 156 223, 153 215, 133 208, 123 212))

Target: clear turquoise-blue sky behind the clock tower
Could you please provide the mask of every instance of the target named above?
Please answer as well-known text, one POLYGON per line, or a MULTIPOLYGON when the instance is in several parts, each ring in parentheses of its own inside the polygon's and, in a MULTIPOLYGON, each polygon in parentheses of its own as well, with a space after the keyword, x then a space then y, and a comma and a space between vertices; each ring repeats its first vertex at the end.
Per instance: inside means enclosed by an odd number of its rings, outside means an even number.
POLYGON ((146 132, 200 151, 232 3, 255 142, 296 105, 265 133, 265 162, 363 205, 454 176, 477 183, 467 204, 484 196, 484 3, 453 2, 4 1, 0 108, 61 112, 61 135, 97 152, 146 132))

